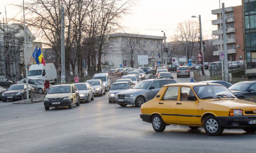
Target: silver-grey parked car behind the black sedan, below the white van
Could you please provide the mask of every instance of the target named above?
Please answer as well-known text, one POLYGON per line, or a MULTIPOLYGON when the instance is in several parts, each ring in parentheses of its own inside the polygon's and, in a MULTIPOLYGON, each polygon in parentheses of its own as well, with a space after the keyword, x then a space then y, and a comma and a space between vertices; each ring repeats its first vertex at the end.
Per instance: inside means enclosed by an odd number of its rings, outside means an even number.
MULTIPOLYGON (((17 84, 23 84, 26 83, 26 78, 21 79, 20 81, 16 82, 17 84)), ((38 91, 39 94, 43 93, 43 89, 45 88, 45 81, 43 79, 38 79, 38 78, 29 78, 28 79, 29 85, 34 88, 35 91, 38 91)), ((50 88, 52 85, 50 85, 50 88)))

